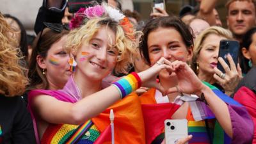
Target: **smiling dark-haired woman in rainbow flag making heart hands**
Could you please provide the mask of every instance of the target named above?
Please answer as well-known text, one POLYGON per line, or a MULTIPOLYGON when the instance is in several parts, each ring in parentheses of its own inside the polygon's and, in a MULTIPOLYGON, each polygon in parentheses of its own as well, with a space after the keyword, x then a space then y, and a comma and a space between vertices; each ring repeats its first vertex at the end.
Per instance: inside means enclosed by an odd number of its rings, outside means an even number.
MULTIPOLYGON (((193 57, 193 36, 190 32, 186 24, 176 17, 159 17, 146 24, 140 44, 145 61, 154 67, 161 64, 159 60, 164 58, 175 70, 170 72, 164 69, 159 72, 159 84, 166 90, 165 93, 151 88, 140 96, 141 102, 156 106, 166 103, 177 106, 173 115, 170 114, 172 108, 169 109, 166 118, 188 120, 188 132, 193 136, 188 137, 189 143, 212 143, 216 140, 218 143, 252 143, 253 122, 246 109, 211 84, 200 81, 200 77, 196 77, 187 64, 193 57), (188 79, 193 79, 193 82, 184 83, 188 79)), ((160 116, 150 121, 148 119, 154 117, 150 114, 144 118, 145 125, 152 122, 154 125, 163 124, 164 120, 161 121, 160 116)), ((154 129, 147 132, 156 134, 154 129)), ((164 143, 164 134, 161 132, 163 129, 150 143, 164 143)))

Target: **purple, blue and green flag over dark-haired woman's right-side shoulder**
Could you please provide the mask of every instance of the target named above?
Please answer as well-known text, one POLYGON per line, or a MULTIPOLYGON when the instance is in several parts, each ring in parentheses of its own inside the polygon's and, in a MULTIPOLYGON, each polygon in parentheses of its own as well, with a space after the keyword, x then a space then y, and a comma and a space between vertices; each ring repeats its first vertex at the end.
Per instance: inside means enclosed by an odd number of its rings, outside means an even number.
MULTIPOLYGON (((228 97, 228 95, 225 95, 225 93, 222 93, 215 86, 212 86, 207 82, 203 82, 203 83, 209 86, 212 92, 214 92, 221 100, 223 100, 223 102, 227 104, 231 122, 232 122, 233 138, 231 139, 225 133, 225 131, 223 131, 223 129, 221 128, 221 125, 216 120, 216 123, 214 125, 214 135, 213 135, 212 142, 214 144, 252 143, 253 123, 246 109, 241 104, 239 104, 239 102, 228 97)), ((206 119, 214 116, 214 115, 209 115, 209 114, 212 114, 212 112, 208 106, 206 106, 203 102, 201 102, 201 104, 205 108, 204 112, 205 112, 206 119)))

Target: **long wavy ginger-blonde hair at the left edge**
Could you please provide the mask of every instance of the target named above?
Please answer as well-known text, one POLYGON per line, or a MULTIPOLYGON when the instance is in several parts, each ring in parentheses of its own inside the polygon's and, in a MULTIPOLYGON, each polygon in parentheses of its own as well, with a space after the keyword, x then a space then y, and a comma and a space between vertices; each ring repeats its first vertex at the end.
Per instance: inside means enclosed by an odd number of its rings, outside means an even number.
POLYGON ((0 13, 0 94, 7 97, 24 93, 28 79, 25 69, 19 65, 20 50, 12 44, 13 31, 0 13))

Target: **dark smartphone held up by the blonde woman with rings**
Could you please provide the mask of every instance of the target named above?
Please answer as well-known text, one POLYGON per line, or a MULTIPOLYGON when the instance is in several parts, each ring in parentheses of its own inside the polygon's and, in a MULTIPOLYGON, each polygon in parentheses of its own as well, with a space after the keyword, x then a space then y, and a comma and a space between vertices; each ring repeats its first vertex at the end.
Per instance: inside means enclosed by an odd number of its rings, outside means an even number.
MULTIPOLYGON (((239 52, 239 42, 237 42, 236 40, 220 41, 219 57, 223 58, 223 60, 227 63, 228 67, 230 67, 230 64, 229 64, 229 61, 227 60, 227 54, 229 53, 232 56, 234 63, 237 66, 238 52, 239 52)), ((219 61, 218 61, 217 68, 221 70, 221 72, 225 73, 225 70, 221 66, 219 61)))

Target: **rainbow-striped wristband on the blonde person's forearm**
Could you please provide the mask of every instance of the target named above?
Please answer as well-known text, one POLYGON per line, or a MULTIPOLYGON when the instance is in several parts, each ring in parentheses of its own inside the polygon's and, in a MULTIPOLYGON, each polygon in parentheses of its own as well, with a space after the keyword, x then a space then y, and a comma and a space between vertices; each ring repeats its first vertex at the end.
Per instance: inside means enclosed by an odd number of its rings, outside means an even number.
POLYGON ((132 72, 128 76, 125 76, 124 78, 116 81, 112 85, 118 89, 120 93, 120 98, 124 99, 126 95, 129 95, 129 93, 140 88, 141 79, 138 74, 132 72))

